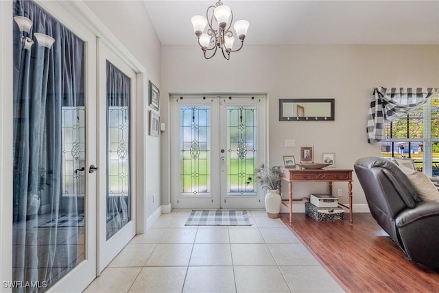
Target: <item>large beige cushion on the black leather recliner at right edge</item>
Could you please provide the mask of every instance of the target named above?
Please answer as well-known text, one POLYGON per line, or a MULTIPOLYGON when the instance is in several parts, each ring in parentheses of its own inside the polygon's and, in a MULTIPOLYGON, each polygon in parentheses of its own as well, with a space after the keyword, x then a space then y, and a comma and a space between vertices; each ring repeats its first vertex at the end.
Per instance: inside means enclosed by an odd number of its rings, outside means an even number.
POLYGON ((407 175, 410 183, 412 183, 416 193, 422 200, 439 200, 438 189, 423 172, 418 172, 401 165, 399 168, 407 175))

